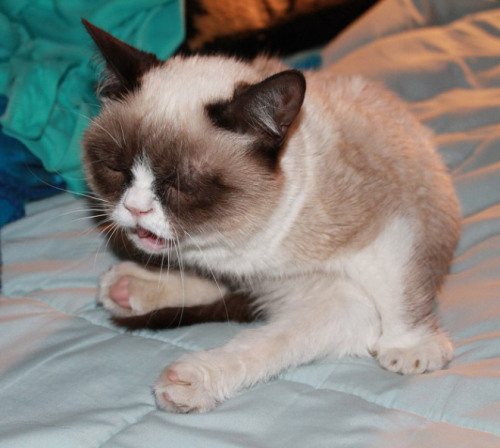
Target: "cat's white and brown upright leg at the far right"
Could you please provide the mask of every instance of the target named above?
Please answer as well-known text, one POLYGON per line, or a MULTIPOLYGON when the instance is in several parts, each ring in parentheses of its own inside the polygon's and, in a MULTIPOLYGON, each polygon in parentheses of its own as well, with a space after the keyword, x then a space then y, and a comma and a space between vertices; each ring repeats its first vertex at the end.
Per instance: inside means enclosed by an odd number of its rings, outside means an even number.
POLYGON ((372 354, 382 367, 403 374, 444 367, 452 344, 432 313, 436 293, 428 275, 429 260, 418 261, 414 230, 397 218, 369 246, 359 251, 346 271, 372 298, 380 315, 381 337, 372 354))

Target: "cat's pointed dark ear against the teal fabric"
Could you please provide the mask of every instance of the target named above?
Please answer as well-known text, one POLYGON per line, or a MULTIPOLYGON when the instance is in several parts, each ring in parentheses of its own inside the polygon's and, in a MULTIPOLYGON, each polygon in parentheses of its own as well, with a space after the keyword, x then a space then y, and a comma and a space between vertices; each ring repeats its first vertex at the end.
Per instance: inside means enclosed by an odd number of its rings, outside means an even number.
POLYGON ((82 23, 106 62, 107 72, 100 92, 104 96, 120 97, 136 89, 141 76, 162 63, 154 54, 122 42, 83 18, 82 23))

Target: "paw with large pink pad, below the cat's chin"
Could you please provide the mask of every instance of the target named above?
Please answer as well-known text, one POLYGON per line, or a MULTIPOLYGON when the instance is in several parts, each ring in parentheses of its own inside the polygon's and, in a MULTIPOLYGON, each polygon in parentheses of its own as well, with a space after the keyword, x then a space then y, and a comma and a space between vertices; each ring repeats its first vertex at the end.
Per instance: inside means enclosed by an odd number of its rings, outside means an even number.
POLYGON ((141 270, 135 263, 124 262, 102 275, 97 301, 113 316, 137 316, 155 309, 147 300, 149 282, 138 277, 141 270))

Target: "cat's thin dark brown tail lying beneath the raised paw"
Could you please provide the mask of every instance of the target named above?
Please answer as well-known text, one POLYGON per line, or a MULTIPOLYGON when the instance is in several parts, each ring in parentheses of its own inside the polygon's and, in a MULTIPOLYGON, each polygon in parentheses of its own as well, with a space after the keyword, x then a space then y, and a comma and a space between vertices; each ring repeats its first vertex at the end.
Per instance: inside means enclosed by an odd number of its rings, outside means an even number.
POLYGON ((260 318, 253 301, 246 295, 235 293, 208 305, 161 308, 139 316, 115 316, 111 320, 128 330, 161 330, 207 322, 249 323, 260 318))

